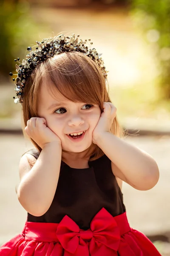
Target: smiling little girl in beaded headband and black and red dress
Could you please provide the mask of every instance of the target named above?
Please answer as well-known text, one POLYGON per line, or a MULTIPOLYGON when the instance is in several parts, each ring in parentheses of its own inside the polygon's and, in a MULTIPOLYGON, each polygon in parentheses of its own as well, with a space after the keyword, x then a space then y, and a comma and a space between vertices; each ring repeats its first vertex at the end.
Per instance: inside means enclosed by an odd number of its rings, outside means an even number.
POLYGON ((0 256, 160 256, 130 228, 121 192, 122 180, 153 188, 159 169, 120 138, 102 58, 75 35, 28 51, 13 79, 35 145, 19 166, 17 196, 28 218, 0 256))

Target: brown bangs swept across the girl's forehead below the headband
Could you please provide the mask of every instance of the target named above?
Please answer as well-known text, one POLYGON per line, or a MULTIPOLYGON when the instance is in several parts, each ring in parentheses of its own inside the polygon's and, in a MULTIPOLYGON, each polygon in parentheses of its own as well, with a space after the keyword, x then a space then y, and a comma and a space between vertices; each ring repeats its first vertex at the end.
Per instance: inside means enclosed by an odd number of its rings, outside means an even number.
POLYGON ((104 102, 105 79, 91 58, 78 52, 62 52, 42 65, 43 83, 73 102, 104 102), (44 80, 45 78, 45 80, 44 80))

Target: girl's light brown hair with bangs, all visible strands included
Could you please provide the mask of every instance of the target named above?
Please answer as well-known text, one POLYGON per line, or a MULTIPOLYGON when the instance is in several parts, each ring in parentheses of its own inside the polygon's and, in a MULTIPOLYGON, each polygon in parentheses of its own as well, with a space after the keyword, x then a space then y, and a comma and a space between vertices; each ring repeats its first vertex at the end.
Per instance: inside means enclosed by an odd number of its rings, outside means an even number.
MULTIPOLYGON (((40 63, 26 81, 22 103, 23 132, 28 119, 38 116, 37 104, 44 79, 50 81, 49 90, 54 90, 55 87, 66 99, 73 102, 97 104, 101 111, 103 102, 111 102, 105 78, 98 65, 81 52, 61 52, 40 63)), ((118 137, 123 135, 117 117, 113 121, 111 132, 118 137)), ((34 140, 31 141, 38 151, 42 150, 34 140)), ((90 160, 96 160, 103 154, 103 151, 92 143, 88 150, 90 160)))

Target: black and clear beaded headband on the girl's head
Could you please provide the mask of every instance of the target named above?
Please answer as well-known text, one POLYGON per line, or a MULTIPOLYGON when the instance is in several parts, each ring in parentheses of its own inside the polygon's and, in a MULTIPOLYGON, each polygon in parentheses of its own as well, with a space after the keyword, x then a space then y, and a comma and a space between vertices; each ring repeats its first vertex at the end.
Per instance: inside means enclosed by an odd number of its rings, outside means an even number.
MULTIPOLYGON (((17 61, 19 65, 16 64, 17 78, 13 78, 13 81, 16 81, 15 91, 16 96, 14 98, 14 102, 22 103, 23 102, 23 89, 26 84, 26 80, 29 76, 31 76, 32 71, 40 64, 42 61, 45 61, 46 58, 52 57, 55 54, 60 52, 69 52, 69 51, 77 51, 82 52, 86 56, 90 57, 92 60, 96 62, 96 64, 100 67, 103 76, 105 79, 107 78, 107 70, 105 70, 104 62, 101 58, 102 54, 96 52, 96 49, 91 49, 91 45, 93 44, 91 39, 82 41, 82 39, 78 39, 73 34, 71 36, 58 35, 54 38, 43 39, 42 42, 36 41, 35 50, 32 50, 31 47, 28 47, 27 50, 29 53, 26 55, 26 59, 20 63, 20 58, 14 59, 17 61)), ((13 76, 13 73, 9 73, 10 76, 13 76)))

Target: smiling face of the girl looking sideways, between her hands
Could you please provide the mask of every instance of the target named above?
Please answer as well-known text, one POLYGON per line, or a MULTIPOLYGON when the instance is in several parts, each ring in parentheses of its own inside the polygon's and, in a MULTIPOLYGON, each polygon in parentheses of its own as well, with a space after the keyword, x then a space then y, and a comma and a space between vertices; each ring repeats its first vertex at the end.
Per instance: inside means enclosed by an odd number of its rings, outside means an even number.
POLYGON ((72 102, 43 84, 40 90, 38 115, 47 121, 47 126, 60 138, 62 149, 70 152, 82 152, 91 146, 92 133, 99 121, 99 105, 90 102, 72 102), (77 133, 82 133, 76 135, 77 133), (69 134, 74 134, 71 137, 69 134))

